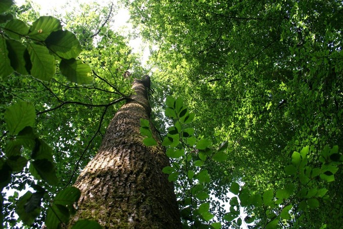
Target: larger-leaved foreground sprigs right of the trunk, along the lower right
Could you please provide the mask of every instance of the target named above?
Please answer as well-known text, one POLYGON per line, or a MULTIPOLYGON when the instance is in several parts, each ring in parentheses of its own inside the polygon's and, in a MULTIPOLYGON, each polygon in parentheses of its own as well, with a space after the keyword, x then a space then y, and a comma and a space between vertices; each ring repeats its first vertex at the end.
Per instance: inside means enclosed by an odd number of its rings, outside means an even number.
MULTIPOLYGON (((195 130, 187 127, 193 121, 194 113, 189 113, 182 99, 167 96, 165 103, 165 116, 173 119, 175 125, 168 128, 162 141, 162 146, 166 147, 166 155, 171 160, 171 166, 164 167, 162 172, 168 174, 169 181, 177 185, 185 228, 220 228, 221 222, 229 225, 234 222, 238 226, 242 222, 254 222, 255 226, 263 228, 275 228, 278 225, 298 227, 301 226, 301 220, 294 219, 299 216, 302 219, 304 212, 318 208, 320 201, 329 199, 328 184, 323 181, 334 181, 334 174, 343 162, 343 156, 338 153, 337 145, 331 149, 326 146, 318 159, 321 166, 314 167, 308 165, 309 146, 306 146, 300 152, 294 151, 291 163, 283 168, 285 178, 282 188, 267 189, 256 194, 233 181, 229 190, 234 197, 230 199, 229 211, 213 207, 210 210, 210 205, 216 206, 218 202, 210 198, 210 190, 215 187, 211 186, 213 181, 206 164, 211 161, 212 166, 220 167, 227 160, 228 141, 222 142, 217 150, 213 150, 210 140, 196 138, 195 130), (261 211, 264 217, 247 215, 243 218, 240 209, 248 207, 261 211), (212 220, 215 215, 219 222, 212 220)), ((151 138, 149 121, 141 120, 141 126, 141 134, 147 136, 146 139, 151 138)), ((143 143, 146 146, 157 144, 143 143)))

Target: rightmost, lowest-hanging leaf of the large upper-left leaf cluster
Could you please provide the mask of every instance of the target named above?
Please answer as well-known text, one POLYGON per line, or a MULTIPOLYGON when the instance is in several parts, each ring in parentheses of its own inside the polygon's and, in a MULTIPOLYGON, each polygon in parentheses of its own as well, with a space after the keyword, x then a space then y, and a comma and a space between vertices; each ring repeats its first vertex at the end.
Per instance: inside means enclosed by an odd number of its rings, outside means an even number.
POLYGON ((80 85, 93 84, 93 77, 90 75, 92 69, 88 64, 82 63, 81 60, 63 59, 60 63, 60 70, 71 82, 80 85))

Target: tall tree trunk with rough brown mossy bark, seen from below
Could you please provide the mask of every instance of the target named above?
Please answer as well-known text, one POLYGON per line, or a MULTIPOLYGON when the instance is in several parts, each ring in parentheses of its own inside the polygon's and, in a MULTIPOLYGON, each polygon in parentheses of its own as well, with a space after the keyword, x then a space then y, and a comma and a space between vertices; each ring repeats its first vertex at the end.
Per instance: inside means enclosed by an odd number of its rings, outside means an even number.
POLYGON ((173 184, 161 172, 169 165, 164 149, 146 147, 140 135, 140 119, 150 120, 147 87, 147 75, 135 80, 136 95, 117 111, 98 154, 77 178, 81 197, 71 223, 95 219, 105 228, 182 227, 173 184))

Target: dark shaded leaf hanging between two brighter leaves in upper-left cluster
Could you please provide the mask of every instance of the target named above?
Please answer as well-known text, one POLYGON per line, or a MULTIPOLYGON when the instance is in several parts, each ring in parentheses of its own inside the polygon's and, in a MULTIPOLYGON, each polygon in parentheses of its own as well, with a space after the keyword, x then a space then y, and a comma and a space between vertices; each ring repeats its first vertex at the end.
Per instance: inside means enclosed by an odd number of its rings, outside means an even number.
POLYGON ((31 60, 27 58, 26 47, 23 46, 20 42, 14 40, 7 40, 7 49, 9 50, 8 57, 11 61, 11 66, 13 69, 23 75, 29 74, 26 69, 26 66, 31 65, 31 60), (29 63, 27 63, 29 62, 29 63))

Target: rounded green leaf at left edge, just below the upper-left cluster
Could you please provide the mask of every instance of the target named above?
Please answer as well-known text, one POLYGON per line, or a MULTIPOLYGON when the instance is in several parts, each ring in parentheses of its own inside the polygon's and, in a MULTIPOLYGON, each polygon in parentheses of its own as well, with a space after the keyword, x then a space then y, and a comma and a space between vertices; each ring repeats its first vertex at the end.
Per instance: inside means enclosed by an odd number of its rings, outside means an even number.
POLYGON ((24 127, 34 125, 36 112, 29 102, 20 101, 7 108, 4 118, 8 130, 15 135, 24 127))

